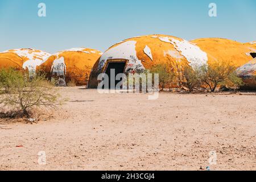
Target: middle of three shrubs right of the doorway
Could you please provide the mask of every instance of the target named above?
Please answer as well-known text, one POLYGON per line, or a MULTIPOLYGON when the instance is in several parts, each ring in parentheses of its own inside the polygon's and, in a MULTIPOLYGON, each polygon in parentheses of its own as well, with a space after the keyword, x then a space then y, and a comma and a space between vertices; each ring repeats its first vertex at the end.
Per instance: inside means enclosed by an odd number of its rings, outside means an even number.
POLYGON ((187 88, 189 92, 198 90, 201 86, 201 69, 199 66, 186 65, 183 71, 179 74, 179 86, 187 88))

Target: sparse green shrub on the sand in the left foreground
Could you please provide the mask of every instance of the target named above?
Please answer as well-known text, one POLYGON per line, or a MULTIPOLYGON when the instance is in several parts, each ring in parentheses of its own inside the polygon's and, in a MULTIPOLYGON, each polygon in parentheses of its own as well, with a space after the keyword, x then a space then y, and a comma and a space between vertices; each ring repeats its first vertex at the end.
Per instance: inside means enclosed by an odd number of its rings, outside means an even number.
POLYGON ((20 111, 22 117, 30 117, 36 107, 55 108, 64 102, 57 88, 44 75, 29 78, 27 73, 13 69, 2 70, 0 75, 0 85, 7 88, 1 92, 0 103, 9 109, 9 113, 20 111))

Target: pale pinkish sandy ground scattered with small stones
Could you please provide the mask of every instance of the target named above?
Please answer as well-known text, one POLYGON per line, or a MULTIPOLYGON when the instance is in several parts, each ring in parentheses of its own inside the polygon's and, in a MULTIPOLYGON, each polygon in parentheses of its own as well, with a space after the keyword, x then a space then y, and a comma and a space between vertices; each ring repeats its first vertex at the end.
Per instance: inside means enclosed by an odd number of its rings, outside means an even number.
POLYGON ((61 93, 51 119, 2 124, 1 170, 256 170, 255 95, 61 93))

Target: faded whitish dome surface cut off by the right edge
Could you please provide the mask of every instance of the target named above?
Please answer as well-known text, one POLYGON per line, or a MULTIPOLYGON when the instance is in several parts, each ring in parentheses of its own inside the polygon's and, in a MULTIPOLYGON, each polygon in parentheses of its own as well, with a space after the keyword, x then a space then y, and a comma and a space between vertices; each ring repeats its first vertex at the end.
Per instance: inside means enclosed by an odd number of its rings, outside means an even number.
POLYGON ((255 72, 256 72, 256 58, 237 69, 237 74, 240 76, 249 76, 249 77, 255 76, 255 72))

